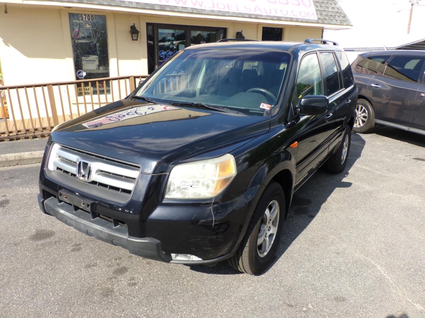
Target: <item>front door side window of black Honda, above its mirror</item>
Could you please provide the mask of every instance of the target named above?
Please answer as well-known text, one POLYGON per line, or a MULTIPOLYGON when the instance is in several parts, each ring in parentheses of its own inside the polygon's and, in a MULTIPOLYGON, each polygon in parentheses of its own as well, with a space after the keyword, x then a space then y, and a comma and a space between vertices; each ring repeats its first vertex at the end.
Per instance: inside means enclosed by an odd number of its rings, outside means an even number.
POLYGON ((322 75, 317 54, 309 54, 303 58, 295 85, 292 98, 294 107, 297 107, 298 101, 304 96, 323 95, 322 75))

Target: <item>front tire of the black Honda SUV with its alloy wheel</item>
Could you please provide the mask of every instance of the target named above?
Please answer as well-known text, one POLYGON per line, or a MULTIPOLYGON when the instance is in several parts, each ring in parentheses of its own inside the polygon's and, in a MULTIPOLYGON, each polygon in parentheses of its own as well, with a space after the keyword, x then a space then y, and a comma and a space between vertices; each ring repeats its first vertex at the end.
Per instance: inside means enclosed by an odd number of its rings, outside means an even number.
POLYGON ((284 217, 285 195, 283 189, 277 182, 270 181, 258 200, 241 245, 236 254, 228 259, 229 264, 238 271, 251 275, 258 275, 266 270, 275 258, 284 217), (270 214, 273 209, 275 209, 275 213, 270 214), (270 215, 269 218, 266 216, 267 211, 270 215), (273 215, 275 215, 274 218, 273 215), (272 226, 269 226, 270 223, 272 226), (272 233, 273 229, 275 233, 272 233), (263 241, 258 245, 260 231, 265 236, 263 237, 261 234, 263 241), (267 242, 269 243, 268 248, 267 242))

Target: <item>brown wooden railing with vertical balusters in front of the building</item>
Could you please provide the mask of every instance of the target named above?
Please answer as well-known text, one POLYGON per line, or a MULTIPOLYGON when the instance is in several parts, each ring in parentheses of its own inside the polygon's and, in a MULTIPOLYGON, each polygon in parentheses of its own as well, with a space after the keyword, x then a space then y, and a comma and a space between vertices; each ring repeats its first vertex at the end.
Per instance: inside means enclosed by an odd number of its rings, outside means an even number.
POLYGON ((59 123, 125 98, 146 77, 0 86, 0 141, 47 136, 59 123))

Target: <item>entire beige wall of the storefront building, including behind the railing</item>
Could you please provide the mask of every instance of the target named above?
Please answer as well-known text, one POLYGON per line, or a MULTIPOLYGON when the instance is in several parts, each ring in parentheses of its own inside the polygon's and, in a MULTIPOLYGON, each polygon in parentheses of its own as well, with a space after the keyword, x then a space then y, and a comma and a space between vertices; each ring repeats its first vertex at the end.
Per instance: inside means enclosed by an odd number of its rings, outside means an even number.
MULTIPOLYGON (((71 31, 69 26, 69 13, 99 14, 106 16, 106 27, 108 34, 108 55, 110 76, 145 75, 147 74, 147 39, 146 23, 159 23, 171 25, 191 25, 220 27, 227 29, 227 37, 234 38, 237 31, 243 31, 246 39, 261 40, 262 28, 264 26, 283 28, 284 41, 303 41, 306 38, 320 38, 322 27, 301 27, 295 25, 283 25, 276 23, 262 24, 258 22, 240 21, 240 19, 229 20, 219 18, 202 19, 194 16, 183 17, 179 14, 173 16, 163 14, 146 14, 134 12, 119 12, 96 10, 92 8, 64 8, 43 7, 23 4, 8 5, 8 14, 0 13, 0 61, 3 69, 5 85, 37 84, 60 81, 74 81, 75 70, 71 46, 71 31), (130 37, 130 25, 136 25, 140 31, 139 40, 132 41, 130 37)), ((123 84, 123 83, 122 83, 123 84)), ((66 86, 54 87, 56 105, 60 105, 59 89, 62 96, 67 96, 66 86)), ((57 106, 57 114, 77 113, 77 102, 79 111, 84 112, 84 97, 76 97, 74 86, 68 87, 70 99, 64 98, 62 107, 57 106)), ((122 85, 122 94, 125 91, 122 85)), ((44 105, 41 88, 36 89, 39 105, 44 105)), ((118 86, 113 85, 114 99, 118 100, 118 86)), ((47 93, 47 92, 45 92, 47 93)), ((20 89, 20 103, 24 118, 36 117, 34 106, 34 93, 28 93, 27 105, 25 90, 20 89)), ((85 96, 86 99, 90 98, 85 96)), ((105 104, 105 96, 94 96, 94 102, 105 104)), ((7 97, 8 99, 8 97, 7 97)), ((112 96, 108 96, 112 100, 112 96)), ((16 94, 11 92, 11 100, 8 103, 18 105, 16 94)), ((87 100, 89 103, 90 100, 87 100)), ((48 113, 51 114, 48 102, 48 113)), ((9 114, 15 119, 22 116, 18 107, 9 114)), ((40 107, 40 116, 45 117, 46 111, 40 107)))

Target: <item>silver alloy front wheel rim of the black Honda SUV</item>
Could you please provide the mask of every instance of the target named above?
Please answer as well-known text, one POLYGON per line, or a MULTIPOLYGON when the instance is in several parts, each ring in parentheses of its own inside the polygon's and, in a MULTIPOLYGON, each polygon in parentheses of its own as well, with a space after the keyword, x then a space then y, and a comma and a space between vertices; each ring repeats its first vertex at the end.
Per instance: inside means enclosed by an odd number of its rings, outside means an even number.
POLYGON ((257 252, 259 257, 265 257, 272 248, 279 225, 279 203, 273 200, 269 203, 261 219, 260 232, 258 232, 257 252))

